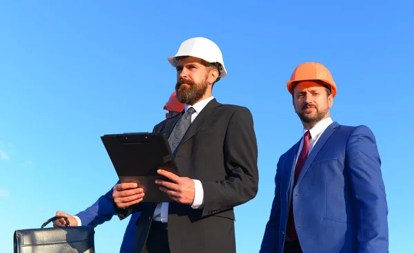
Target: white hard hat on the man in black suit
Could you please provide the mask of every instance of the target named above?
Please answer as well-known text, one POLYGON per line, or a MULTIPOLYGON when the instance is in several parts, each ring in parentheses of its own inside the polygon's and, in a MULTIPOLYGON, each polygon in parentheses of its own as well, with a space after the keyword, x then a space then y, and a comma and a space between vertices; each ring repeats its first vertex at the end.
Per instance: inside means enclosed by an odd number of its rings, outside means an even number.
POLYGON ((177 67, 177 57, 179 56, 197 57, 210 63, 217 62, 221 64, 221 69, 219 68, 219 77, 225 77, 227 74, 226 68, 224 68, 221 50, 213 41, 210 41, 210 39, 204 37, 187 39, 181 43, 181 46, 179 46, 178 51, 174 56, 168 57, 168 62, 170 62, 173 67, 177 67))

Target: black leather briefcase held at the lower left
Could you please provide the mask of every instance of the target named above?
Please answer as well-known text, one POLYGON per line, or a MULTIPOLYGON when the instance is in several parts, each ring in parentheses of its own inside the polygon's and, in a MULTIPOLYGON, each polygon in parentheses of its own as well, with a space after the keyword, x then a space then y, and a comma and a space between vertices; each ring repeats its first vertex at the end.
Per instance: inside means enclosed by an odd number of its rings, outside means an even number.
POLYGON ((14 231, 14 253, 95 253, 93 227, 68 225, 68 218, 55 216, 43 223, 40 229, 14 231), (65 218, 66 227, 43 228, 58 218, 65 218))

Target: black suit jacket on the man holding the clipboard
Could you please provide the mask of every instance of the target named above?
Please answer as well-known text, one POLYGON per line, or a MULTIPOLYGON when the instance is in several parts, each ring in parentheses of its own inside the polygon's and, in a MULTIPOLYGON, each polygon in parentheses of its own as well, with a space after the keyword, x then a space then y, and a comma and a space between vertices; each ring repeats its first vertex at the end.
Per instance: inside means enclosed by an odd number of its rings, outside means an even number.
MULTIPOLYGON (((183 113, 157 124, 154 132, 169 136, 183 113)), ((259 181, 257 141, 250 111, 211 100, 188 128, 177 147, 175 160, 180 176, 201 181, 204 207, 192 209, 190 205, 170 203, 170 251, 236 252, 233 207, 254 198, 259 181)), ((120 219, 141 211, 137 252, 145 247, 155 206, 139 203, 118 209, 115 205, 120 219)))

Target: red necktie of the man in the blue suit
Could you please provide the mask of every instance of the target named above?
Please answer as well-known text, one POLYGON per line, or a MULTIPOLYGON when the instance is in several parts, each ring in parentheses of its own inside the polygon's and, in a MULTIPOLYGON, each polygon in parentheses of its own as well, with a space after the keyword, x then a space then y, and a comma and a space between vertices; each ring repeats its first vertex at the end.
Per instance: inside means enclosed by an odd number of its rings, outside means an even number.
MULTIPOLYGON (((295 187, 297 178, 299 178, 300 171, 302 170, 302 167, 304 167, 306 158, 308 158, 309 146, 311 144, 309 141, 310 138, 311 138, 311 133, 309 131, 306 131, 304 135, 304 144, 303 144, 302 150, 299 153, 299 157, 297 158, 296 167, 295 167, 295 181, 293 182, 292 187, 295 187)), ((290 240, 293 241, 297 238, 295 221, 293 221, 293 199, 290 201, 287 232, 288 232, 287 234, 290 240)))

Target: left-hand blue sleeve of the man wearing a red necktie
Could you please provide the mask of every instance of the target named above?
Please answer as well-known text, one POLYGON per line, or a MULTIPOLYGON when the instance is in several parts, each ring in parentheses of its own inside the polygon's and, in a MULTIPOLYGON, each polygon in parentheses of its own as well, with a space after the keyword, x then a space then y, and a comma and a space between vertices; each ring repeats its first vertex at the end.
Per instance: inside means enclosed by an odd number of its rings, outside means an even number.
POLYGON ((270 210, 269 221, 264 229, 262 246, 259 253, 272 253, 279 250, 279 223, 280 223, 280 185, 279 185, 279 162, 275 176, 275 197, 270 210))

